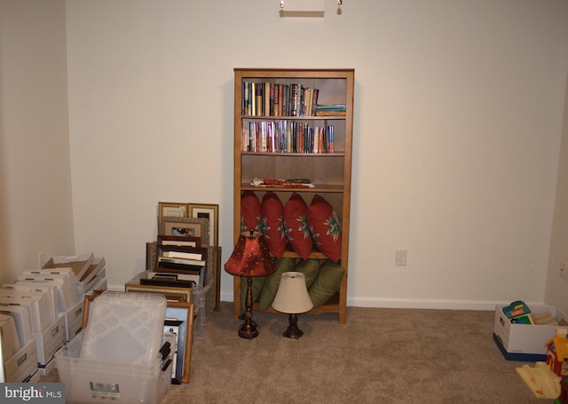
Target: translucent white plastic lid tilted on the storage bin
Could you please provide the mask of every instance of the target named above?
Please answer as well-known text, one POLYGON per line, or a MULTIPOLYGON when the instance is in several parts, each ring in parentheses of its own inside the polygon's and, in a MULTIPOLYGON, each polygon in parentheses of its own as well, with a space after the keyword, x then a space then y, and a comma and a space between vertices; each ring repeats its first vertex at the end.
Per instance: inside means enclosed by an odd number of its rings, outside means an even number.
POLYGON ((167 305, 159 294, 106 291, 91 304, 80 357, 153 364, 162 341, 167 305))

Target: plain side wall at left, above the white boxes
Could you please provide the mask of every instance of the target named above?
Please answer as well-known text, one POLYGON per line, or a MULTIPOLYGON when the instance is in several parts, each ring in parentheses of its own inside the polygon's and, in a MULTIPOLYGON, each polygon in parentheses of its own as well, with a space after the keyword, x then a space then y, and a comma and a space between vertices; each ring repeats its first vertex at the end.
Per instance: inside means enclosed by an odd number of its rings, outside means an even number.
POLYGON ((75 252, 65 1, 0 0, 0 282, 75 252))

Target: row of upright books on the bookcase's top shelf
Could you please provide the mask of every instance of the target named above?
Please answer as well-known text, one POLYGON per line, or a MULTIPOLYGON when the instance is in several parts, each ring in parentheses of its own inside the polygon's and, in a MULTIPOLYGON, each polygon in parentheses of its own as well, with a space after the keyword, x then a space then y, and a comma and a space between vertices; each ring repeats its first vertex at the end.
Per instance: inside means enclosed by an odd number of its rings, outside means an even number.
POLYGON ((315 116, 318 89, 301 83, 242 82, 241 115, 315 116))

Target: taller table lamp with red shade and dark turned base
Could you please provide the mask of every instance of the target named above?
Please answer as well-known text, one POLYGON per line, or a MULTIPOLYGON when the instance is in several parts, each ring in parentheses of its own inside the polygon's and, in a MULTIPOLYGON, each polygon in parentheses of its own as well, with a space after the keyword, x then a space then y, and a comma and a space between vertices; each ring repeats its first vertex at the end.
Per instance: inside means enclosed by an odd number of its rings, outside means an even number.
POLYGON ((274 265, 270 256, 264 235, 255 233, 254 229, 241 233, 233 254, 225 264, 225 271, 232 275, 247 277, 245 322, 239 329, 239 337, 256 338, 258 337, 258 329, 252 321, 252 277, 266 276, 276 272, 276 265, 274 265))

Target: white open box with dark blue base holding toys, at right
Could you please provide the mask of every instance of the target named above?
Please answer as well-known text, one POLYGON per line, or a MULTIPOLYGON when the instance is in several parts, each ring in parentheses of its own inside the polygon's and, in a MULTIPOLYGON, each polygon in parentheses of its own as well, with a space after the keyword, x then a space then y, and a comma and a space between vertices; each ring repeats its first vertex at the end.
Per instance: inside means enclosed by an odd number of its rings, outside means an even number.
MULTIPOLYGON (((532 324, 513 324, 503 313, 503 307, 495 307, 495 321, 493 324, 493 340, 499 346, 501 353, 507 360, 545 361, 546 342, 554 337, 556 329, 568 329, 563 326, 540 326, 532 324)), ((566 321, 565 314, 554 306, 530 305, 531 313, 540 314, 549 312, 556 321, 566 321)))

